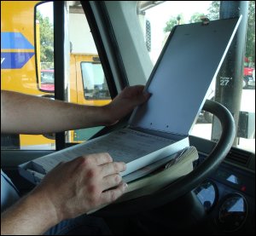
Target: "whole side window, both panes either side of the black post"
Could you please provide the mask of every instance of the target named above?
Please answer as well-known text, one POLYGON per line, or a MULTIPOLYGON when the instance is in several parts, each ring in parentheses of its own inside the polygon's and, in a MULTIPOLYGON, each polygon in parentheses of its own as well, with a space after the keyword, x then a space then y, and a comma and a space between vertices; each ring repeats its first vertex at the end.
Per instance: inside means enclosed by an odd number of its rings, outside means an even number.
MULTIPOLYGON (((106 105, 108 84, 84 10, 77 1, 65 4, 65 97, 85 106, 106 105)), ((1 88, 54 99, 53 2, 6 1, 1 7, 1 88), (19 20, 8 24, 9 19, 19 20)), ((69 130, 66 141, 86 141, 102 128, 69 130)), ((2 135, 1 147, 55 149, 55 134, 2 135)))

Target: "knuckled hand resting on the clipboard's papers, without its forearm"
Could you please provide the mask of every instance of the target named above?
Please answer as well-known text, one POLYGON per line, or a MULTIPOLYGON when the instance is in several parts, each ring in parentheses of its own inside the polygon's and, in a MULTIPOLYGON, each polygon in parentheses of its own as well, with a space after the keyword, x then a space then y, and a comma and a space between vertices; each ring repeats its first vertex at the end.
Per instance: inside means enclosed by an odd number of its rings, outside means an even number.
POLYGON ((90 154, 57 165, 32 194, 61 222, 118 199, 127 187, 119 176, 124 170, 125 163, 113 162, 108 153, 90 154))

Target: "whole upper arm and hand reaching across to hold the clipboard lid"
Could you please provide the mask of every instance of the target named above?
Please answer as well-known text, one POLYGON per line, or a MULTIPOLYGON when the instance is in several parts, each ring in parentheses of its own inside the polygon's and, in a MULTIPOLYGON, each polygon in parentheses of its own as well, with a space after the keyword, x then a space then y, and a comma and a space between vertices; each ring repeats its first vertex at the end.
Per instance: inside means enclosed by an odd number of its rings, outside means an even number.
POLYGON ((143 85, 127 87, 106 106, 79 105, 1 90, 1 133, 39 135, 115 124, 148 100, 143 89, 143 85))

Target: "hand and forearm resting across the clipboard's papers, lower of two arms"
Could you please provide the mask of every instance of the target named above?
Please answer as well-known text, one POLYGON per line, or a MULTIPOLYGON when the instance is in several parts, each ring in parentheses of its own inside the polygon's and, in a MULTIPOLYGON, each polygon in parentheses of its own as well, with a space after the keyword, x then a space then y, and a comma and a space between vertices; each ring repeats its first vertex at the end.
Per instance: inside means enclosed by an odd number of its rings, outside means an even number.
POLYGON ((61 163, 38 187, 1 213, 1 235, 39 235, 62 220, 108 204, 125 193, 124 163, 108 153, 61 163))

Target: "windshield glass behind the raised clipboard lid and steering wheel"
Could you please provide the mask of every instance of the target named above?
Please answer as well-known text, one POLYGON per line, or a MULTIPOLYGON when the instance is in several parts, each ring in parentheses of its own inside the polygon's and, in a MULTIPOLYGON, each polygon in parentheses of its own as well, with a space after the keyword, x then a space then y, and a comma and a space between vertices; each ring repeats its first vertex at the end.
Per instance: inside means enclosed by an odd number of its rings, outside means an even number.
MULTIPOLYGON (((207 17, 209 20, 218 20, 220 2, 160 1, 153 4, 151 1, 141 1, 138 2, 137 8, 148 54, 153 64, 155 64, 173 26, 201 22, 202 17, 207 17)), ((241 61, 240 65, 236 65, 236 67, 241 68, 241 77, 218 78, 217 76, 212 81, 207 99, 223 103, 228 109, 231 107, 230 112, 234 116, 237 127, 236 140, 233 146, 255 153, 254 1, 249 1, 248 9, 247 41, 244 42, 246 51, 244 52, 244 60, 241 61), (233 78, 236 78, 236 84, 238 85, 234 86, 234 89, 230 89, 233 78), (230 89, 229 92, 225 91, 227 89, 230 89), (233 107, 237 108, 237 112, 232 110, 233 107)), ((203 60, 201 66, 203 66, 203 60)), ((230 72, 234 71, 234 67, 229 68, 227 66, 230 72)), ((200 66, 197 69, 200 70, 200 66)), ((212 117, 212 114, 208 112, 201 111, 190 135, 218 141, 220 135, 218 119, 212 117)))

